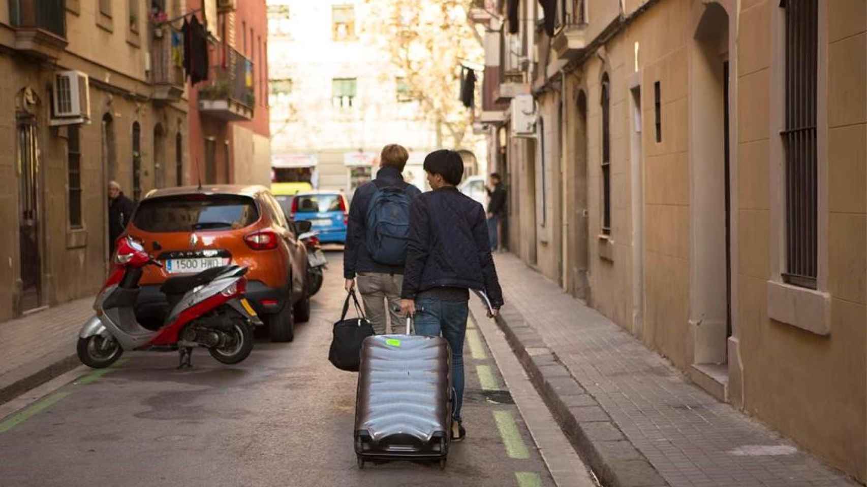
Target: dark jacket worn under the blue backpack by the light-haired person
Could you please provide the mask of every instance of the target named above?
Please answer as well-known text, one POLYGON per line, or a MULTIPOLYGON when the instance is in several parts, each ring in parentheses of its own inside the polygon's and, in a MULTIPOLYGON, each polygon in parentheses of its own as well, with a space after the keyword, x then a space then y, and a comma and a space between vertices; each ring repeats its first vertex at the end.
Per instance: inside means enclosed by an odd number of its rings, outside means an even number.
POLYGON ((387 266, 375 262, 368 252, 367 220, 370 198, 376 192, 376 184, 382 187, 396 186, 403 188, 410 199, 420 195, 421 191, 410 183, 403 181, 401 171, 393 167, 383 167, 376 173, 376 179, 364 183, 355 189, 352 203, 349 205, 349 222, 346 226, 346 246, 343 249, 343 277, 354 279, 356 272, 382 272, 385 274, 402 274, 403 266, 387 266))

